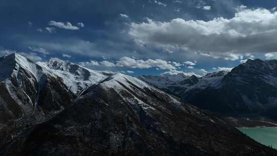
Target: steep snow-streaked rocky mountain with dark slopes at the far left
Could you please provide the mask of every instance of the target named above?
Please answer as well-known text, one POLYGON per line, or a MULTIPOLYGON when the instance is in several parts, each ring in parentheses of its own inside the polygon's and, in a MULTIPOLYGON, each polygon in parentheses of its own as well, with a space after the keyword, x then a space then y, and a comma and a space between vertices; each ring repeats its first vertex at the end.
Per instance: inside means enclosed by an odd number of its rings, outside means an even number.
POLYGON ((25 57, 0 58, 0 148, 25 128, 42 123, 73 101, 57 75, 25 57))

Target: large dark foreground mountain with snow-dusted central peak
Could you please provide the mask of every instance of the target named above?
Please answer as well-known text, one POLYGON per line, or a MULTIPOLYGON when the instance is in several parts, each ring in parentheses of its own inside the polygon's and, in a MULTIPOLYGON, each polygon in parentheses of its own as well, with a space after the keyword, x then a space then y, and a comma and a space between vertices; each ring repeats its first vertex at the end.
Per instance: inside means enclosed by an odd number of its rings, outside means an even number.
POLYGON ((210 112, 115 74, 26 131, 3 155, 274 155, 210 112))

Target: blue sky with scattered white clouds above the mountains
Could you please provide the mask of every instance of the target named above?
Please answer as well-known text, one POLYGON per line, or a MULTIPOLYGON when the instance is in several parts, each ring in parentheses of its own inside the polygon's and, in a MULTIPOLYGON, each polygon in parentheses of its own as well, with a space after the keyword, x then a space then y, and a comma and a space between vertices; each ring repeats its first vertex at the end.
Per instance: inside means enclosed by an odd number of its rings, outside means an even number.
POLYGON ((0 56, 132 76, 205 75, 277 59, 277 1, 0 1, 0 56))

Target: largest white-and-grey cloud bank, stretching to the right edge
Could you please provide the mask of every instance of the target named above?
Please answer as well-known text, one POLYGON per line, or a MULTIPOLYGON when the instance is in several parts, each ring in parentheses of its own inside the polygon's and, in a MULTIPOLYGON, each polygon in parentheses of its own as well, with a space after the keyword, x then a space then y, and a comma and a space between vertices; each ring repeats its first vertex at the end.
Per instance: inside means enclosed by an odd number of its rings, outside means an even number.
POLYGON ((242 6, 231 18, 131 23, 129 35, 141 45, 180 46, 212 57, 239 60, 242 53, 277 51, 276 19, 277 12, 242 6))

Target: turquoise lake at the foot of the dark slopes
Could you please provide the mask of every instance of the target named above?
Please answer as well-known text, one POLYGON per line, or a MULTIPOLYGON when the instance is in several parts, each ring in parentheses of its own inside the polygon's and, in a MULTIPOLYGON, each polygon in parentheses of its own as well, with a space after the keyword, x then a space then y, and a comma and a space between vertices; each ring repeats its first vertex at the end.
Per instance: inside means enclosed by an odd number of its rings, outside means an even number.
POLYGON ((266 146, 271 145, 273 148, 277 148, 277 128, 257 127, 238 129, 261 144, 266 146))

